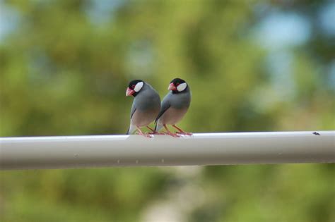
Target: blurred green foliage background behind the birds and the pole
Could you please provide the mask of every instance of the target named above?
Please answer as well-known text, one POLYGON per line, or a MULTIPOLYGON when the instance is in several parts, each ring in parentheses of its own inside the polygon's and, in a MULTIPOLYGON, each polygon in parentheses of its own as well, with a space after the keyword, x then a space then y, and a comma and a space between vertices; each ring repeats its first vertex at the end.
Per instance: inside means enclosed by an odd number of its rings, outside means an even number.
MULTIPOLYGON (((192 89, 185 130, 334 130, 335 2, 0 0, 2 137, 123 134, 129 80, 163 97, 176 77, 192 89)), ((3 171, 0 221, 334 222, 334 173, 3 171)))

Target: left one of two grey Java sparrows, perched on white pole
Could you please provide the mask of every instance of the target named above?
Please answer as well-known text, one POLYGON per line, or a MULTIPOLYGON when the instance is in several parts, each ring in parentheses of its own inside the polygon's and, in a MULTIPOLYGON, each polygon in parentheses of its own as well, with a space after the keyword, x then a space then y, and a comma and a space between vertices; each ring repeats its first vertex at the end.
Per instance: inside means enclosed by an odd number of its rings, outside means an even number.
POLYGON ((126 97, 133 96, 134 101, 130 111, 130 126, 127 135, 138 131, 139 135, 151 137, 143 133, 141 127, 146 126, 155 134, 155 130, 148 125, 155 121, 160 111, 160 96, 148 82, 143 80, 132 80, 129 82, 126 97))

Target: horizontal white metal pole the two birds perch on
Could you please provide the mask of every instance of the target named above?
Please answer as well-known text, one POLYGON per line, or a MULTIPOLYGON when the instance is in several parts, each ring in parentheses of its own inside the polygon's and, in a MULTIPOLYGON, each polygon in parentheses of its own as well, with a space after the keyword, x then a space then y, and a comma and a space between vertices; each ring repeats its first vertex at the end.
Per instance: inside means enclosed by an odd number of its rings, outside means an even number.
POLYGON ((0 169, 334 163, 335 131, 0 138, 0 169))

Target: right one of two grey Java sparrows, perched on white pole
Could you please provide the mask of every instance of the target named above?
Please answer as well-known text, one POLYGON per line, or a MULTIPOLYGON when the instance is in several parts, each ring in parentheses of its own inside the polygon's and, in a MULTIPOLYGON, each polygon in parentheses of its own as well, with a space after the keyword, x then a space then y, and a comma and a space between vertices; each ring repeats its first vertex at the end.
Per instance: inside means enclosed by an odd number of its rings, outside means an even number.
POLYGON ((191 104, 191 90, 189 89, 189 85, 187 85, 185 80, 175 78, 171 80, 167 90, 170 90, 170 92, 166 94, 160 104, 160 112, 155 119, 155 131, 158 132, 164 127, 165 130, 167 130, 165 134, 172 135, 173 137, 192 135, 192 133, 184 132, 184 130, 175 125, 182 120, 189 109, 189 104, 191 104), (166 125, 172 125, 178 132, 170 132, 166 125))

